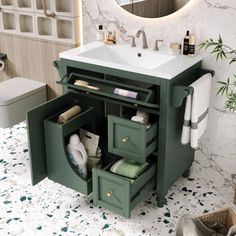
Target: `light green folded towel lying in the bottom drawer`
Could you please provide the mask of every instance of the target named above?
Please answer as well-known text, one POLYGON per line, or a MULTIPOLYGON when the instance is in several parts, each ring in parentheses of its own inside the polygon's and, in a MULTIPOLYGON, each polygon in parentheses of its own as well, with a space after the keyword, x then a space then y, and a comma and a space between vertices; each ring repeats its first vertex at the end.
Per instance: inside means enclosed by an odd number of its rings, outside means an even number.
POLYGON ((110 171, 134 179, 137 178, 147 168, 147 166, 147 162, 141 164, 133 160, 121 159, 112 165, 110 171))

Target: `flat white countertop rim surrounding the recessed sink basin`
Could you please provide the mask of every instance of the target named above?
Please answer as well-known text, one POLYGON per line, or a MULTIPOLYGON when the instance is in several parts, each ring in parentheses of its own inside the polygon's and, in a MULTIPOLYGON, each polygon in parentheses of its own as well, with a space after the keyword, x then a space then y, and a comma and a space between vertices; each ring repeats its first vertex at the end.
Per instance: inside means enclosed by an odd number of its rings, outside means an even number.
MULTIPOLYGON (((125 65, 125 64, 117 63, 117 62, 110 62, 108 60, 91 58, 85 55, 86 53, 89 54, 89 52, 93 52, 94 49, 98 50, 101 47, 104 47, 104 43, 95 41, 90 44, 78 47, 78 48, 73 48, 71 50, 61 52, 59 54, 59 57, 63 59, 89 63, 93 65, 99 65, 99 66, 104 66, 104 67, 123 70, 123 71, 130 71, 130 72, 155 76, 155 77, 164 78, 164 79, 172 79, 178 74, 180 74, 181 72, 185 71, 186 69, 190 68, 191 66, 195 65, 196 63, 202 60, 201 55, 195 55, 193 57, 186 56, 186 55, 176 55, 173 57, 173 59, 167 61, 166 63, 162 65, 159 65, 153 69, 147 69, 147 68, 141 68, 135 65, 131 66, 131 65, 125 65)), ((127 57, 129 57, 129 54, 132 52, 132 50, 135 52, 140 52, 140 53, 143 52, 143 53, 150 53, 150 54, 154 54, 154 53, 162 53, 166 55, 169 54, 168 50, 162 49, 161 51, 153 51, 152 49, 141 49, 138 47, 131 48, 128 45, 120 45, 120 44, 111 45, 111 46, 106 45, 105 47, 117 47, 116 49, 123 50, 124 54, 126 54, 127 57)), ((99 55, 99 57, 102 58, 102 55, 99 55)))

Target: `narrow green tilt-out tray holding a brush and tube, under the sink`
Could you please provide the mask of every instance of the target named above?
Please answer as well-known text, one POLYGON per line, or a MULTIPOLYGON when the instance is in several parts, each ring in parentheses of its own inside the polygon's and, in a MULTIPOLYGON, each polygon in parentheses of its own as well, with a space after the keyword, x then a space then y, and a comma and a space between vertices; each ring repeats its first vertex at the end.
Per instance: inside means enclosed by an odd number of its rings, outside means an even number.
POLYGON ((112 98, 135 105, 147 106, 150 108, 158 108, 158 104, 154 103, 154 91, 151 89, 140 88, 133 85, 121 84, 114 81, 95 78, 88 75, 71 73, 67 82, 57 81, 58 84, 64 85, 70 89, 76 89, 78 91, 84 91, 85 93, 95 94, 102 97, 112 98), (88 82, 90 86, 99 88, 98 90, 90 89, 87 87, 75 85, 76 80, 83 80, 88 82), (114 94, 115 88, 129 90, 138 93, 137 99, 129 98, 121 95, 114 94))

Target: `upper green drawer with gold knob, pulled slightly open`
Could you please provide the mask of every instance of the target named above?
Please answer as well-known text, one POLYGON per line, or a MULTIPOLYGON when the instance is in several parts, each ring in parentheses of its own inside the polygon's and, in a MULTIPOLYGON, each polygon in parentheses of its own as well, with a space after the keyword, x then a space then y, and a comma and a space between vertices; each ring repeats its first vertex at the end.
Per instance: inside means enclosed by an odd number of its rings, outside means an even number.
POLYGON ((157 123, 147 125, 108 115, 108 151, 140 163, 157 147, 157 123))

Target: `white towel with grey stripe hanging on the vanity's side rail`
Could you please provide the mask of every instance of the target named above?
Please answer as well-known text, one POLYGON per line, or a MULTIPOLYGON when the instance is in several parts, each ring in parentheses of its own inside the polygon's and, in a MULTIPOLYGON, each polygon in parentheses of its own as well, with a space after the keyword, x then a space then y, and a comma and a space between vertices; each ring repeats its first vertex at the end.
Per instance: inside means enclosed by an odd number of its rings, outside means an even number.
POLYGON ((198 140, 207 128, 212 76, 207 73, 192 83, 193 94, 188 95, 181 143, 191 141, 191 147, 198 148, 198 140))

